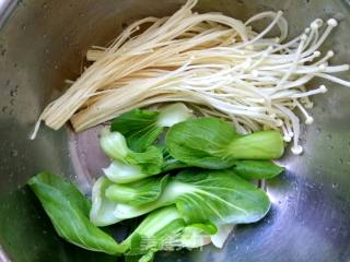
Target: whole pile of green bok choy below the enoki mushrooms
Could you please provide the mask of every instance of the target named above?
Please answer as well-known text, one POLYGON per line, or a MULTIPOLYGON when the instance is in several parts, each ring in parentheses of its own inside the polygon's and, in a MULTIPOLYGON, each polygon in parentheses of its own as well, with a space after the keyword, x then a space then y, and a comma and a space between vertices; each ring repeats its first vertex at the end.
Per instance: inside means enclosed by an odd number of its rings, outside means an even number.
POLYGON ((112 163, 93 186, 92 203, 48 172, 28 184, 59 236, 128 261, 210 242, 221 248, 235 224, 255 223, 270 209, 249 180, 283 171, 271 162, 283 153, 279 132, 242 135, 221 119, 191 118, 183 104, 127 112, 102 131, 100 144, 112 163), (121 243, 98 228, 142 215, 121 243))

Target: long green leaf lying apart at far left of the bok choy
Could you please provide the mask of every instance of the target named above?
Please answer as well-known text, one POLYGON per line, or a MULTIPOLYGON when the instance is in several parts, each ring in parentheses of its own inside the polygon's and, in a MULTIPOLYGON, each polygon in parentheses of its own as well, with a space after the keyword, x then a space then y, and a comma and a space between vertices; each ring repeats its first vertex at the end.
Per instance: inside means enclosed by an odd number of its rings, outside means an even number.
POLYGON ((119 254, 127 249, 93 225, 89 218, 90 202, 63 178, 40 172, 28 181, 39 199, 57 234, 81 248, 119 254))

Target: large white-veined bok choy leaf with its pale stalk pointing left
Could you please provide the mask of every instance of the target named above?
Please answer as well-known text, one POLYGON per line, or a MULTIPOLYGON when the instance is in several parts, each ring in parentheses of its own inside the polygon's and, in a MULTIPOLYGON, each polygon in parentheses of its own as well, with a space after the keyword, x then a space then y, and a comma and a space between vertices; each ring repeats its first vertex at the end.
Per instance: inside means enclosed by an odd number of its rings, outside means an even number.
MULTIPOLYGON (((160 178, 158 178, 160 179, 160 178)), ((98 181, 97 181, 98 182, 98 181)), ((100 187, 100 186, 98 186, 100 187)), ((224 224, 253 223, 262 218, 270 207, 268 196, 232 170, 189 169, 170 179, 161 196, 148 204, 135 206, 128 203, 108 202, 105 188, 93 190, 93 209, 101 203, 94 223, 105 219, 104 225, 141 216, 156 209, 175 204, 186 223, 224 224), (97 193, 94 193, 94 192, 97 193), (96 202, 95 198, 102 198, 96 202)), ((101 224, 96 224, 101 225, 101 224)))

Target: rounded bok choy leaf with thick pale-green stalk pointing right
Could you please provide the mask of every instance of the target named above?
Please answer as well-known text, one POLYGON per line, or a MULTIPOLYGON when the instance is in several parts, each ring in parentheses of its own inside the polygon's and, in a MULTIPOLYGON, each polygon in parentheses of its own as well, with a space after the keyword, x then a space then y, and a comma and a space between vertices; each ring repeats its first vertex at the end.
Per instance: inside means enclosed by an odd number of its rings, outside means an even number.
POLYGON ((218 118, 177 123, 170 129, 165 143, 175 159, 209 169, 229 168, 237 159, 272 159, 283 154, 279 132, 261 131, 243 136, 231 123, 218 118))

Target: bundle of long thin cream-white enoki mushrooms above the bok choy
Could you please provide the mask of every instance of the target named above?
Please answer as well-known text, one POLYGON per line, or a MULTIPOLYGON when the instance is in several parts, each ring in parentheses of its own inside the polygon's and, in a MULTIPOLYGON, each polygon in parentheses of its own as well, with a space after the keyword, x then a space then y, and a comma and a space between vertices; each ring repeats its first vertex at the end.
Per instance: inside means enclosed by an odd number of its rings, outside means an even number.
POLYGON ((337 21, 317 19, 287 41, 288 22, 281 11, 242 22, 192 12, 196 3, 188 0, 168 17, 137 21, 109 47, 89 50, 92 66, 45 108, 38 122, 57 130, 70 120, 79 132, 135 108, 184 102, 203 115, 230 119, 242 133, 280 130, 292 142, 292 152, 301 154, 298 116, 311 124, 310 97, 327 92, 325 85, 305 85, 320 78, 350 86, 334 75, 349 64, 329 66, 334 51, 318 50, 337 21), (255 32, 252 23, 262 19, 271 22, 255 32), (275 28, 279 36, 267 37, 275 28))

